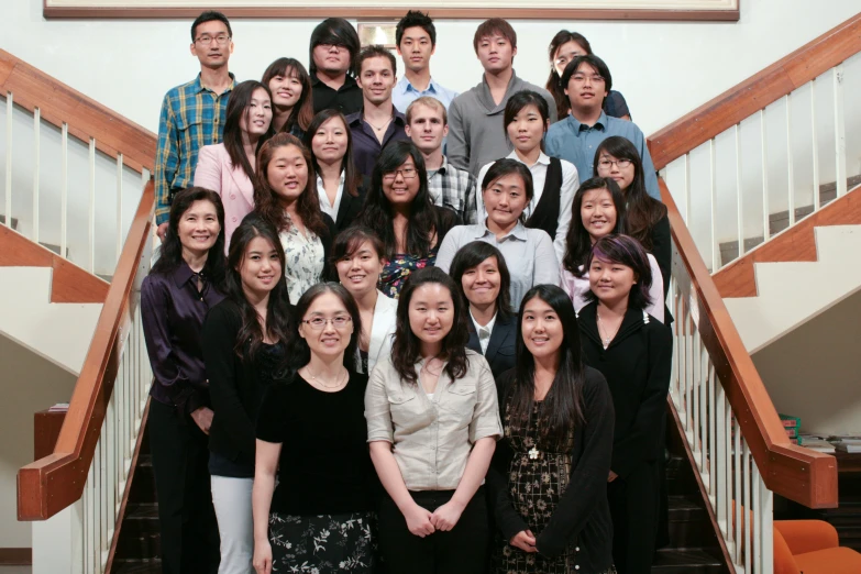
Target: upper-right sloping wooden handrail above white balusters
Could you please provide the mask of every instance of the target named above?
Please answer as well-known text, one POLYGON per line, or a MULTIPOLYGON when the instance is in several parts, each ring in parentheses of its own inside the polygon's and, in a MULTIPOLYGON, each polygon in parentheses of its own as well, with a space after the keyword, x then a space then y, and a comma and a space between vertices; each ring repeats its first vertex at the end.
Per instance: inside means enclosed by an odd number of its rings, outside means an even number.
POLYGON ((649 137, 656 169, 861 52, 861 13, 649 137))

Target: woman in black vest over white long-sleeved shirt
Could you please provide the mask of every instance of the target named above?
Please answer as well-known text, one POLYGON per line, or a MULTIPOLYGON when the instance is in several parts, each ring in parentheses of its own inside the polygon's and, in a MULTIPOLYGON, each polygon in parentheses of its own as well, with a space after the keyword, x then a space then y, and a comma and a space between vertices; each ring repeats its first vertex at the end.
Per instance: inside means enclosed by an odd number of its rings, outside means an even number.
MULTIPOLYGON (((544 134, 550 125, 550 109, 544 98, 534 91, 515 93, 506 103, 503 115, 506 136, 514 146, 508 158, 523 163, 532 174, 534 194, 526 206, 525 224, 543 229, 553 240, 556 258, 565 254, 565 235, 571 224, 571 201, 579 185, 574 164, 550 157, 544 153, 544 134)), ((484 181, 492 164, 478 172, 478 181, 484 181)), ((483 197, 478 196, 478 220, 487 214, 483 197)))

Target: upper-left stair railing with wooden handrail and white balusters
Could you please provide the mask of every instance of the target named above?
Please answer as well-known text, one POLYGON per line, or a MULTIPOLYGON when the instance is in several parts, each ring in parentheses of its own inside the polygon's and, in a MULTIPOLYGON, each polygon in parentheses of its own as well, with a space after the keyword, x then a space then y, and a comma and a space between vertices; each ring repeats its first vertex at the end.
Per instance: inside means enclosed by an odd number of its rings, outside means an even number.
POLYGON ((0 49, 2 100, 0 223, 111 275, 150 179, 155 134, 0 49))

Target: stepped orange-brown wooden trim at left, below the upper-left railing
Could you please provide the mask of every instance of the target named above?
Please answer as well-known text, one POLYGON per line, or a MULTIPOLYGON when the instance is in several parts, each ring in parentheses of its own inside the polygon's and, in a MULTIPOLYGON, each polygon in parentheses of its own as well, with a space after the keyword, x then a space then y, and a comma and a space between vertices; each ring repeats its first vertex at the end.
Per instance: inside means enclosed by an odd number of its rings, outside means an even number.
POLYGON ((108 297, 106 280, 5 225, 0 225, 0 267, 51 267, 51 302, 101 303, 108 297))

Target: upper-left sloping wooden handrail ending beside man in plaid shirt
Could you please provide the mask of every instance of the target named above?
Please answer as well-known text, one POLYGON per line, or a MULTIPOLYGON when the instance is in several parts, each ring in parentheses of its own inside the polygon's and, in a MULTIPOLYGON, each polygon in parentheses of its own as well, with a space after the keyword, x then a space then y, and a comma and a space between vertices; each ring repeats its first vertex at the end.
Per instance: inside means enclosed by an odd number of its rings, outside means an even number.
POLYGON ((153 132, 0 49, 0 95, 8 92, 18 106, 31 112, 38 108, 44 121, 57 128, 66 122, 69 134, 82 142, 95 139, 96 148, 106 155, 115 158, 122 153, 124 165, 153 172, 153 132))

